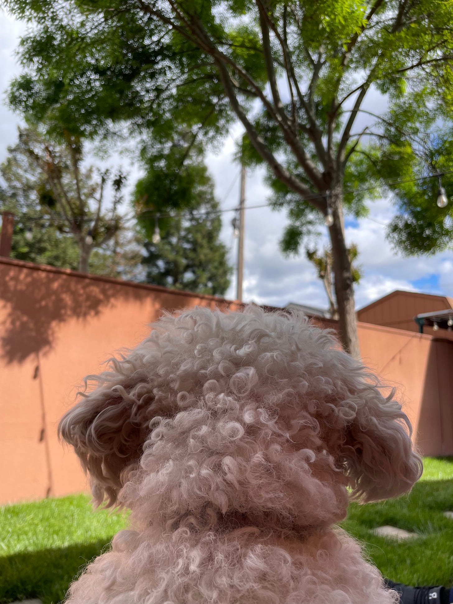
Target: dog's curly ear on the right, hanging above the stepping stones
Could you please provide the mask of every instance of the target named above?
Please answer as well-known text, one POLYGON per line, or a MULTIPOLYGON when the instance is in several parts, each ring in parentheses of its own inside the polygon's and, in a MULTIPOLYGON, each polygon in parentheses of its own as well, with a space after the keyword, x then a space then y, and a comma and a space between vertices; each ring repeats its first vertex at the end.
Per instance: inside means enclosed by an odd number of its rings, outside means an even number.
POLYGON ((412 427, 394 400, 394 389, 384 397, 377 377, 363 368, 360 373, 349 381, 344 400, 353 419, 346 428, 341 457, 352 482, 352 497, 366 503, 408 492, 423 465, 413 450, 412 427))

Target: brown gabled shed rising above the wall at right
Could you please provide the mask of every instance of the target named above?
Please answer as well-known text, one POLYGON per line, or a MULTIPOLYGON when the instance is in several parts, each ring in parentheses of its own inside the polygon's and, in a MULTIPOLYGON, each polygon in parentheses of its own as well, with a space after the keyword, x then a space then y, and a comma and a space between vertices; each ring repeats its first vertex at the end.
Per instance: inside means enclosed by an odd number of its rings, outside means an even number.
MULTIPOLYGON (((415 316, 447 309, 453 309, 453 299, 447 296, 396 290, 358 310, 357 318, 363 323, 418 332, 415 316)), ((431 327, 426 327, 424 332, 434 336, 439 335, 431 327)), ((450 339, 451 332, 445 331, 442 337, 450 339)))

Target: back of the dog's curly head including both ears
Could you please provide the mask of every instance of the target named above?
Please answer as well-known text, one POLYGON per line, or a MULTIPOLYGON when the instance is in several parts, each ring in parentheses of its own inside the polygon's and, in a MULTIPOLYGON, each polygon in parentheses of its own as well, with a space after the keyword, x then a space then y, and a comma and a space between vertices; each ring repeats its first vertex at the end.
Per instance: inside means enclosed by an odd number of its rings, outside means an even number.
POLYGON ((313 527, 410 489, 400 405, 298 315, 166 315, 60 422, 95 500, 167 528, 313 527))

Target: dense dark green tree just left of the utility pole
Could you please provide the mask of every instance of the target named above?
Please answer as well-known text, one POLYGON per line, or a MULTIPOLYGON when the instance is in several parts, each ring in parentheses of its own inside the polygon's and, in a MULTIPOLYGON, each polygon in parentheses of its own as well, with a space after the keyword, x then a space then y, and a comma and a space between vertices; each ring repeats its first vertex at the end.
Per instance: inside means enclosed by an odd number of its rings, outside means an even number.
POLYGON ((219 240, 219 204, 201 146, 190 159, 187 150, 180 140, 155 152, 147 158, 146 175, 137 183, 135 205, 147 235, 142 261, 146 281, 223 295, 230 285, 231 268, 226 246, 219 240), (153 241, 156 228, 158 242, 153 241))

